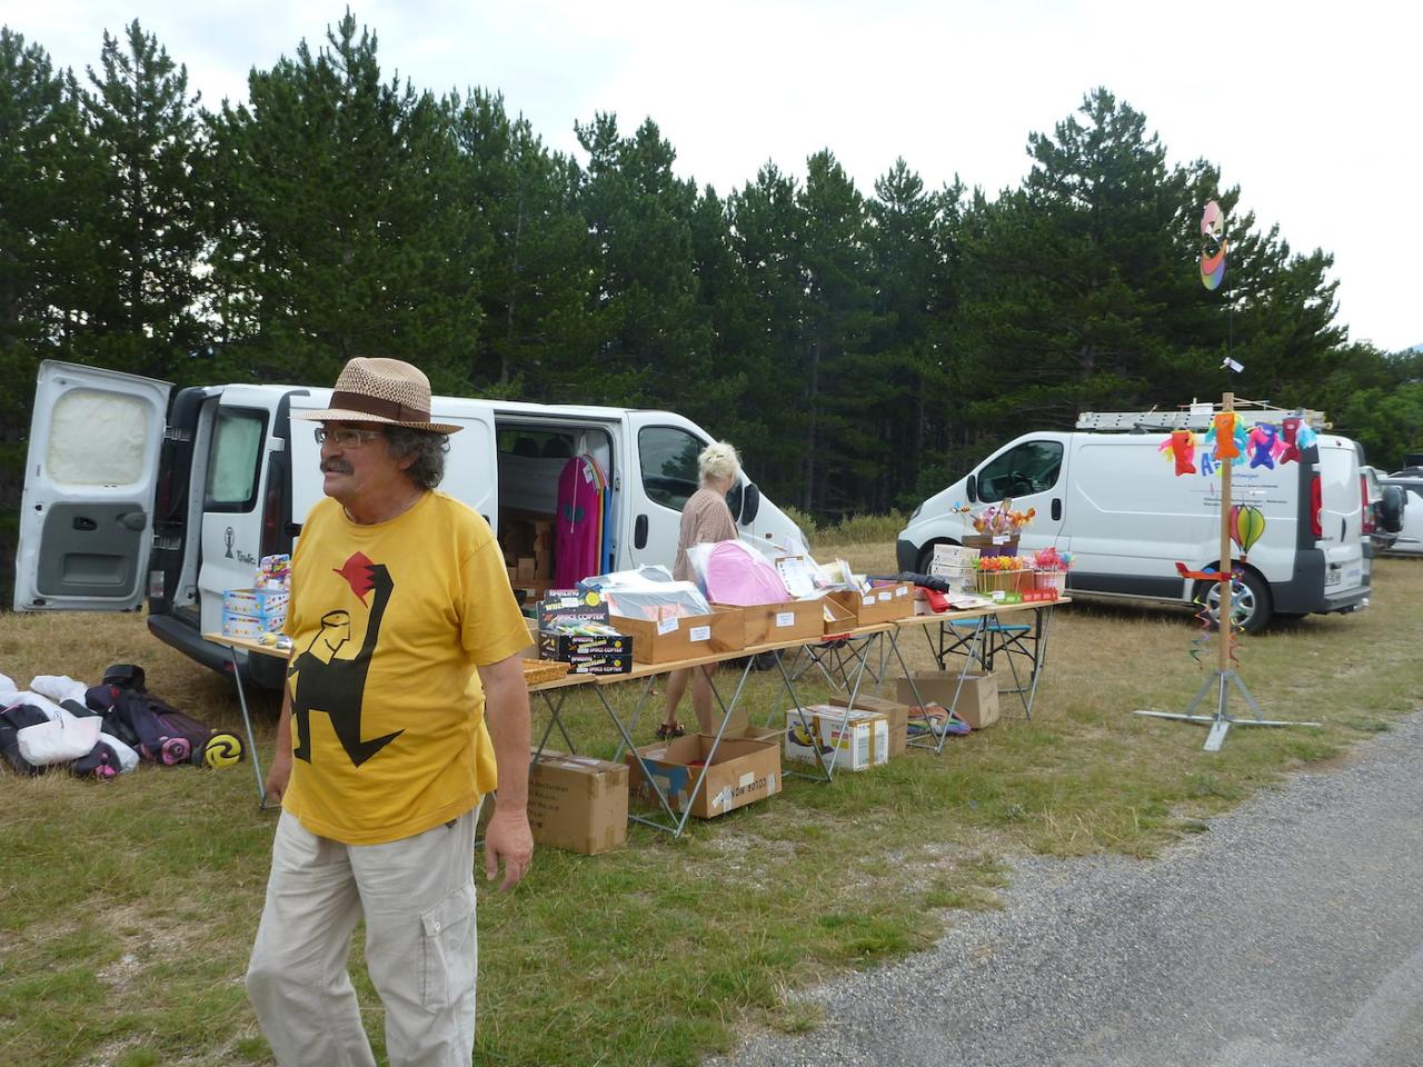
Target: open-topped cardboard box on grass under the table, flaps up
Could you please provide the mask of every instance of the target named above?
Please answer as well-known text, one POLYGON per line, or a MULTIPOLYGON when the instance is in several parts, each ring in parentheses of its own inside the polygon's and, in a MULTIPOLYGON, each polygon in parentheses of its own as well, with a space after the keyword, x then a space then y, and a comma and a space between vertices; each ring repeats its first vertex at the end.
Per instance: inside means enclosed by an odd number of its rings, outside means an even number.
MULTIPOLYGON (((716 758, 707 765, 706 781, 696 797, 689 797, 702 773, 702 767, 693 767, 692 761, 704 760, 714 741, 707 734, 687 734, 638 750, 647 761, 652 777, 667 794, 673 811, 690 807, 697 818, 710 819, 781 791, 781 751, 774 741, 723 737, 716 758)), ((643 777, 636 757, 629 753, 623 760, 630 774, 632 795, 660 808, 657 794, 643 777)))

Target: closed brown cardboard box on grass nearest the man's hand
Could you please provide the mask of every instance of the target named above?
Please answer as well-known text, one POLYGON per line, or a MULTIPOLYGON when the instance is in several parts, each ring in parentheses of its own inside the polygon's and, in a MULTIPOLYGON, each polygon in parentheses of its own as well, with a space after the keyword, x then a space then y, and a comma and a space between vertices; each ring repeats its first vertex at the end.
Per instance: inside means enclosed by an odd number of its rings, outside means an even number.
POLYGON ((529 829, 541 845, 598 855, 628 842, 628 767, 544 750, 529 764, 529 829))

